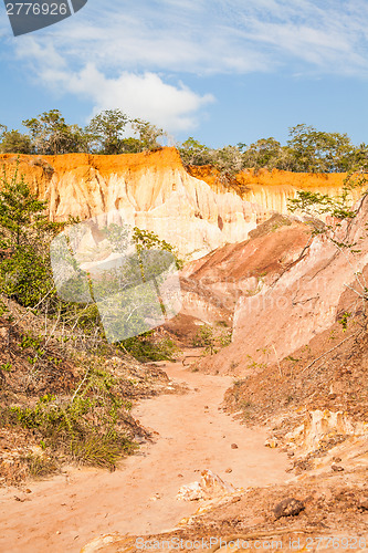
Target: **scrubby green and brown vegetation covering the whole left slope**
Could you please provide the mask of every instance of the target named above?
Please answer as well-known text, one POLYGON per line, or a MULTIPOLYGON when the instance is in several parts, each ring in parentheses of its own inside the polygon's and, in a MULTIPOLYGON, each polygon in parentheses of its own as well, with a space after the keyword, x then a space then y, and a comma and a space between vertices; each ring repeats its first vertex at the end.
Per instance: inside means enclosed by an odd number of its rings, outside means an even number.
MULTIPOLYGON (((113 469, 146 434, 132 398, 167 385, 135 357, 168 358, 175 346, 154 332, 108 345, 95 304, 61 300, 53 282, 50 242, 74 221, 49 222, 18 170, 3 170, 0 188, 0 438, 17 449, 0 456, 0 481, 71 460, 113 469)), ((150 232, 134 236, 138 248, 172 250, 150 232)))

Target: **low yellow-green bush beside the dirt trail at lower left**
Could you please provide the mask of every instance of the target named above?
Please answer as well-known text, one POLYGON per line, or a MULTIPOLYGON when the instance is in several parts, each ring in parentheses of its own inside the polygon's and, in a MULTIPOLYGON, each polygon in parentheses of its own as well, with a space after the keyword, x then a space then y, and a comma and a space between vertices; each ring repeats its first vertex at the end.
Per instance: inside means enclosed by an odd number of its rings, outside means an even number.
MULTIPOLYGON (((45 452, 57 450, 83 465, 112 469, 136 449, 136 444, 122 430, 132 404, 119 397, 114 389, 116 385, 109 374, 92 369, 71 400, 45 395, 33 407, 3 408, 1 420, 32 430, 45 452)), ((30 461, 34 472, 41 461, 34 458, 30 461)))

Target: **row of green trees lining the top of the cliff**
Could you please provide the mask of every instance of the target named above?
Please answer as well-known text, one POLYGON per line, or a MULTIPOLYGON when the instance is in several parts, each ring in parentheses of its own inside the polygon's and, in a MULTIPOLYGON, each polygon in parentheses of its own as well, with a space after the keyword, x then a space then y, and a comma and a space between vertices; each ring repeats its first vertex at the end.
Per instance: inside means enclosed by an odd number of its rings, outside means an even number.
MULTIPOLYGON (((105 109, 84 128, 69 124, 59 109, 23 121, 27 133, 0 124, 0 152, 3 154, 56 155, 67 153, 135 154, 162 147, 162 128, 148 121, 132 118, 122 109, 105 109)), ((211 148, 190 136, 177 145, 185 165, 212 165, 222 176, 242 169, 282 169, 299 173, 345 173, 366 170, 368 146, 355 146, 347 134, 317 131, 299 124, 288 129, 282 145, 274 137, 246 145, 211 148)))

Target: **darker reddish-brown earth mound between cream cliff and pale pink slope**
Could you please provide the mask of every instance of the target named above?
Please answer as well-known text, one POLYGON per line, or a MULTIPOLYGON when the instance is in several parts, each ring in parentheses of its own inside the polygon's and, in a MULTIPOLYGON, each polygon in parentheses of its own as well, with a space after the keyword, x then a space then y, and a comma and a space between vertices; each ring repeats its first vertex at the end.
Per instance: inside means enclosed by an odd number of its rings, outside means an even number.
POLYGON ((306 225, 274 215, 249 240, 189 263, 181 278, 181 313, 208 323, 230 322, 239 298, 272 285, 299 258, 309 238, 306 225))

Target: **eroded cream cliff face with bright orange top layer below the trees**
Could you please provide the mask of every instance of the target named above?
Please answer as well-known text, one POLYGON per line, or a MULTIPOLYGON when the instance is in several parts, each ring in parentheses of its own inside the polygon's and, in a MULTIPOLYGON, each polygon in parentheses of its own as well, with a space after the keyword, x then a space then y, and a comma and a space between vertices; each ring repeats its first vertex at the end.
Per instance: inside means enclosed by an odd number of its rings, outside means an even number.
MULTIPOLYGON (((120 156, 20 155, 19 159, 32 190, 48 200, 51 220, 70 215, 85 220, 117 209, 129 225, 177 246, 186 259, 246 239, 273 211, 286 212, 286 200, 297 188, 337 194, 344 178, 250 170, 229 186, 211 168, 187 171, 176 148, 120 156)), ((0 164, 11 173, 17 156, 1 155, 0 164)))

